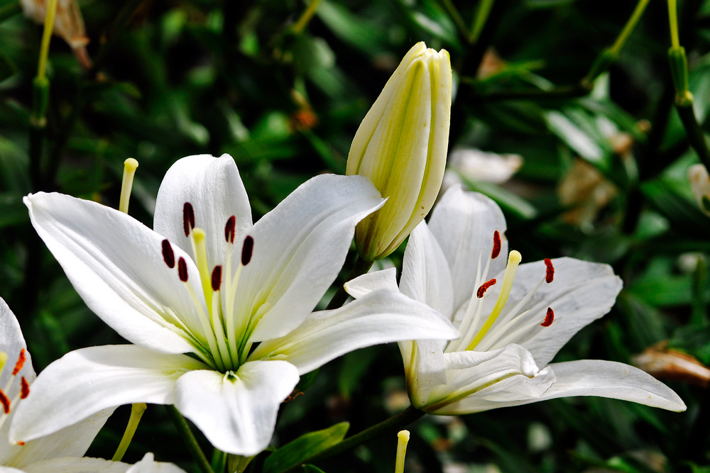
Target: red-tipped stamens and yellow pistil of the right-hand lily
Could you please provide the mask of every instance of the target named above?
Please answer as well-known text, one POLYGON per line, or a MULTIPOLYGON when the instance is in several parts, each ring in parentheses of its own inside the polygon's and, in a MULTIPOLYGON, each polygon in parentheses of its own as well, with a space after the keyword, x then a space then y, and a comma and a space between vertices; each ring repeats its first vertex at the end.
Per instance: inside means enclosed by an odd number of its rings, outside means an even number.
MULTIPOLYGON (((508 345, 508 343, 512 343, 518 335, 531 330, 535 325, 549 327, 552 324, 555 318, 555 313, 552 311, 552 308, 548 307, 547 313, 542 315, 542 317, 540 317, 541 314, 531 314, 530 311, 521 312, 521 309, 530 301, 537 289, 540 289, 543 282, 550 284, 553 281, 555 277, 555 267, 553 267, 552 261, 549 259, 545 259, 545 277, 543 277, 532 291, 525 295, 518 304, 515 304, 515 307, 509 308, 510 310, 507 311, 505 310, 510 297, 510 290, 513 288, 518 265, 520 265, 520 261, 523 259, 520 252, 515 250, 510 251, 508 254, 508 265, 506 266, 506 272, 501 282, 501 291, 498 294, 496 304, 493 305, 488 316, 484 316, 484 299, 488 296, 486 291, 488 291, 491 286, 498 283, 497 279, 488 279, 488 269, 491 267, 491 261, 495 260, 500 253, 501 235, 496 230, 496 232, 493 233, 493 251, 491 252, 491 257, 486 261, 486 265, 482 270, 482 251, 479 254, 479 264, 476 269, 476 284, 474 284, 473 294, 471 294, 469 304, 466 306, 466 311, 459 325, 459 331, 463 336, 458 340, 449 342, 444 351, 492 350, 494 347, 503 347, 508 345)), ((459 309, 459 312, 461 310, 462 308, 459 309)))

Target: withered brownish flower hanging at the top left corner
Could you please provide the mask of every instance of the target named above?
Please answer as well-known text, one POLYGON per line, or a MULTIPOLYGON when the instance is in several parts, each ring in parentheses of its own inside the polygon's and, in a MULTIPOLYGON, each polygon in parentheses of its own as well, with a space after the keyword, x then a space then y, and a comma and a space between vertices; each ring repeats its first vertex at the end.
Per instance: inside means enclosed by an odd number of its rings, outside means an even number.
MULTIPOLYGON (((47 15, 47 3, 48 0, 20 0, 25 16, 40 25, 44 24, 47 15)), ((54 34, 70 45, 77 61, 84 69, 91 68, 92 62, 86 48, 89 38, 87 38, 84 18, 77 0, 58 0, 54 34)))

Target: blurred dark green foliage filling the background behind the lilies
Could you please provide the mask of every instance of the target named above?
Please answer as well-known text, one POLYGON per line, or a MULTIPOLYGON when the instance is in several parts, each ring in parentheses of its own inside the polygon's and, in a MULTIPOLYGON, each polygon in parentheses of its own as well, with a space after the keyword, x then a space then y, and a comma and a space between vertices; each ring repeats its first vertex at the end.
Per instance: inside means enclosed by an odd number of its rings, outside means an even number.
MULTIPOLYGON (((630 363, 669 340, 710 362, 710 219, 687 182, 698 158, 672 106, 665 2, 650 2, 618 61, 591 90, 580 81, 616 39, 633 2, 496 0, 475 43, 461 29, 474 23, 477 2, 459 0, 322 0, 302 30, 294 26, 306 4, 297 0, 80 6, 94 67, 82 69, 53 39, 47 125, 37 140, 32 79, 41 27, 18 13, 15 0, 0 0, 0 296, 18 316, 36 369, 77 347, 122 340, 72 289, 29 224, 22 196, 61 191, 116 207, 122 163, 135 157, 131 214, 152 226, 168 167, 183 156, 226 152, 259 218, 312 175, 344 172, 359 122, 420 40, 451 53, 449 149, 524 158, 504 184, 464 176, 464 185, 501 204, 510 247, 527 261, 569 255, 608 262, 623 278, 611 313, 556 360, 630 363), (572 194, 562 194, 565 185, 572 194), (611 191, 597 199, 603 188, 611 191)), ((679 9, 694 112, 704 123, 710 2, 684 0, 679 9)), ((385 264, 397 265, 401 255, 385 264)), ((286 457, 287 444, 304 433, 335 425, 344 435, 343 421, 356 433, 403 408, 402 375, 393 346, 329 363, 300 386, 305 394, 283 406, 274 445, 286 446, 266 462, 262 455, 253 469, 272 471, 276 455, 286 457)), ((707 472, 709 393, 687 382, 670 385, 685 413, 577 398, 427 416, 410 427, 407 471, 707 472)), ((110 458, 128 416, 129 407, 119 408, 89 455, 110 458)), ((125 459, 153 451, 196 471, 180 445, 164 409, 149 406, 125 459)), ((393 433, 318 467, 391 472, 395 445, 393 433)))

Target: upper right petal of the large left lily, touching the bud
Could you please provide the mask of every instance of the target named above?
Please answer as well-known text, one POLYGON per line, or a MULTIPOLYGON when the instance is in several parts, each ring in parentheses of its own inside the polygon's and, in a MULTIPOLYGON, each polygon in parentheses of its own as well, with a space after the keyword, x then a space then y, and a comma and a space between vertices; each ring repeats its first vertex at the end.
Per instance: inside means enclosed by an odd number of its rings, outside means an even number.
MULTIPOLYGON (((300 325, 342 268, 356 223, 382 204, 369 179, 323 174, 256 223, 249 232, 253 255, 236 295, 236 314, 261 316, 251 342, 300 325)), ((240 260, 235 248, 233 271, 240 260)))

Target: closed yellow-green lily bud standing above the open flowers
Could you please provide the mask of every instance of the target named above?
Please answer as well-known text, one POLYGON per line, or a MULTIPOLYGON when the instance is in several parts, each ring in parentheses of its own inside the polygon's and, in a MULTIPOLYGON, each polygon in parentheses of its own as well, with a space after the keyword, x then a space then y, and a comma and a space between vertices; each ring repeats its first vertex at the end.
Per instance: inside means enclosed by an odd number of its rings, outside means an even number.
POLYGON ((370 178, 387 199, 356 227, 366 261, 393 252, 434 205, 446 166, 451 87, 449 53, 417 43, 355 133, 346 174, 370 178))

